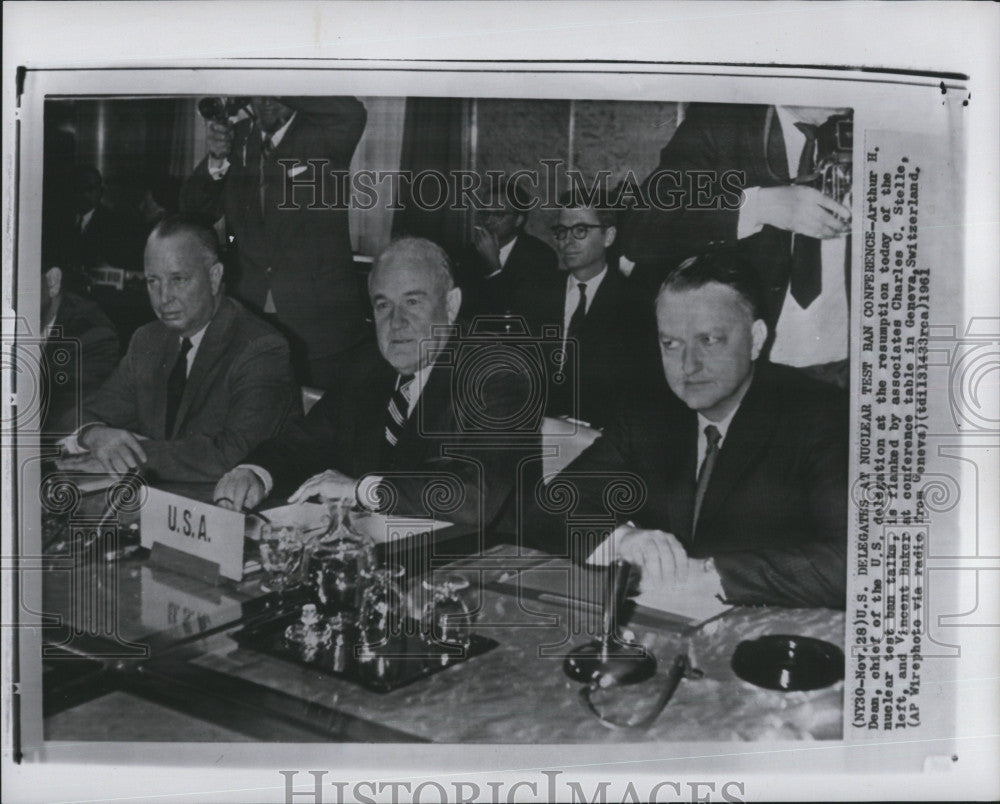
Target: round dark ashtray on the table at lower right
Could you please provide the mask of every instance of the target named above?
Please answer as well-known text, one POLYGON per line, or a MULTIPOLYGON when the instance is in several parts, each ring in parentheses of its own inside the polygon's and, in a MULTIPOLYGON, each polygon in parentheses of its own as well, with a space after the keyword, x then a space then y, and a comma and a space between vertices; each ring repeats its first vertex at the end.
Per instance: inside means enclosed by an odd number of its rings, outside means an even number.
POLYGON ((818 690, 844 677, 844 653, 822 639, 770 634, 737 645, 732 667, 744 681, 764 689, 818 690))

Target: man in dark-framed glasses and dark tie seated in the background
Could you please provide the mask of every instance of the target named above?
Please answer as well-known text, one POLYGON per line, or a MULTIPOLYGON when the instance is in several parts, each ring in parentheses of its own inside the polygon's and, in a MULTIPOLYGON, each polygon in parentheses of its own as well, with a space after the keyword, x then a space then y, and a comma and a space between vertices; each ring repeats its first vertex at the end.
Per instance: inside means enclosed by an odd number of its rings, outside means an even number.
POLYGON ((599 428, 629 388, 659 373, 652 305, 608 265, 617 228, 606 198, 569 194, 560 205, 552 229, 560 271, 525 297, 522 309, 535 335, 554 327, 563 344, 572 342, 565 362, 550 361, 547 415, 599 428))

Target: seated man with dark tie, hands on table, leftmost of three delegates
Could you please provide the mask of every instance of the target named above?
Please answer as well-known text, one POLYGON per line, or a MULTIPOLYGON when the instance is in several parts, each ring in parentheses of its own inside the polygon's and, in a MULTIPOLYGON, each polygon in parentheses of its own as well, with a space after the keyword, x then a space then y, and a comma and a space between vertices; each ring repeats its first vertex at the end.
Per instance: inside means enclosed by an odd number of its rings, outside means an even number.
POLYGON ((168 218, 149 236, 157 320, 139 328, 66 442, 64 468, 215 482, 300 407, 288 346, 222 293, 215 232, 168 218))

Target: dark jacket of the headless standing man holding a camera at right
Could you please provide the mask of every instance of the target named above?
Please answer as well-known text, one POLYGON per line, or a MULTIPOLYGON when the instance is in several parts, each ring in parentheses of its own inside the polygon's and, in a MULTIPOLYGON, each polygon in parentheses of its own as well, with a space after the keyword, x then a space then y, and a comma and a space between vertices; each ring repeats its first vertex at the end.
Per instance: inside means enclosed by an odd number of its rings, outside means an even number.
POLYGON ((636 263, 633 278, 655 292, 667 273, 686 258, 714 247, 738 245, 765 294, 765 320, 773 337, 788 290, 791 232, 765 226, 737 240, 736 230, 741 190, 788 183, 785 141, 773 106, 691 104, 684 122, 660 152, 659 166, 643 183, 649 209, 623 216, 621 242, 625 255, 636 263), (677 171, 680 178, 659 180, 658 195, 665 203, 657 205, 650 192, 661 171, 677 171), (702 206, 720 208, 693 208, 697 187, 686 180, 692 177, 691 171, 710 171, 716 177, 702 206), (724 178, 727 171, 729 177, 724 178), (670 193, 677 189, 681 192, 671 204, 670 193))

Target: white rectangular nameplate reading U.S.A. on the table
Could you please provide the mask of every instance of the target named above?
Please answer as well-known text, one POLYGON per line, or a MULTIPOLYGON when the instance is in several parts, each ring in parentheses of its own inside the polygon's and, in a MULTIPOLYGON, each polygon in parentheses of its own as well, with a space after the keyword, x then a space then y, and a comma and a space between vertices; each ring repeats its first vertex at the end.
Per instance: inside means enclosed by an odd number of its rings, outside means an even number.
POLYGON ((150 488, 139 520, 142 546, 152 550, 158 542, 215 564, 221 576, 239 581, 243 578, 244 518, 210 503, 150 488))

